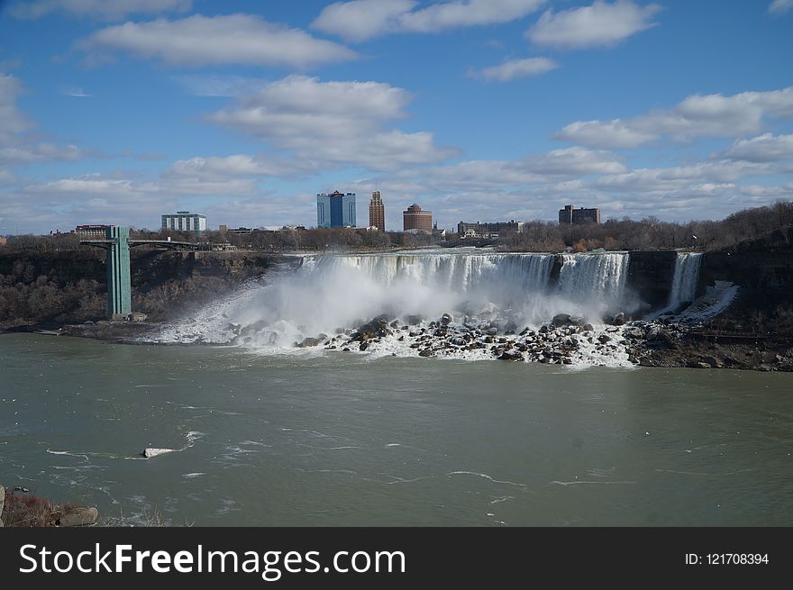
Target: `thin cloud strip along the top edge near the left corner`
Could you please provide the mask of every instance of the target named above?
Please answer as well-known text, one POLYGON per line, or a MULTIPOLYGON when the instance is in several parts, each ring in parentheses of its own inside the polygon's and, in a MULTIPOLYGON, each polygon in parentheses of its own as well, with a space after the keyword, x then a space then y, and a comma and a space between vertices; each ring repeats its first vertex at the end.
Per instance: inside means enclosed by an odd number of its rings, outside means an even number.
POLYGON ((14 4, 10 12, 15 17, 23 19, 35 19, 45 14, 64 12, 115 21, 129 14, 183 13, 191 7, 191 0, 38 0, 14 4))

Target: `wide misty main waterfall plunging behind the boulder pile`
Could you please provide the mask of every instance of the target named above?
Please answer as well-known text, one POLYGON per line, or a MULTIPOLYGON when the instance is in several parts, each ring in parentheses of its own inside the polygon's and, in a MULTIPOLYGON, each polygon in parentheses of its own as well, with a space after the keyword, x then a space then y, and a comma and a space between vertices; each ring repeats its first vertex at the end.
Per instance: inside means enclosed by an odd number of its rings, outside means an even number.
POLYGON ((592 323, 624 309, 625 252, 564 255, 558 285, 551 254, 421 253, 306 257, 296 271, 250 285, 164 329, 160 340, 291 349, 295 341, 355 328, 380 313, 427 321, 451 313, 499 331, 539 326, 556 313, 592 323))

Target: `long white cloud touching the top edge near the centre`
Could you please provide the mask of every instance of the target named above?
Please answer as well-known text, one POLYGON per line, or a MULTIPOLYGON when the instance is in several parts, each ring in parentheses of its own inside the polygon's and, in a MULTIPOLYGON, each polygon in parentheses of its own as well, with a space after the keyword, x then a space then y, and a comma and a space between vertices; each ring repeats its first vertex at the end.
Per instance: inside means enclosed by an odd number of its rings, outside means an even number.
POLYGON ((352 0, 326 6, 312 27, 349 41, 366 41, 396 32, 509 23, 533 13, 545 0, 453 0, 414 10, 413 0, 352 0))

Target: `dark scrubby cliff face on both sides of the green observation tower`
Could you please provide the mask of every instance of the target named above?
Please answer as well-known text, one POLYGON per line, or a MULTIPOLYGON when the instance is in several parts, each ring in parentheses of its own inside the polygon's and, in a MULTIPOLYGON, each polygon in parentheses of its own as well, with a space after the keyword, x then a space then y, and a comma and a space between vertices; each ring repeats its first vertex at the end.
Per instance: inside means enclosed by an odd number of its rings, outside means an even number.
MULTIPOLYGON (((132 250, 132 308, 154 321, 187 312, 275 259, 248 252, 132 250)), ((0 329, 40 322, 105 317, 105 255, 101 250, 0 251, 0 329)))

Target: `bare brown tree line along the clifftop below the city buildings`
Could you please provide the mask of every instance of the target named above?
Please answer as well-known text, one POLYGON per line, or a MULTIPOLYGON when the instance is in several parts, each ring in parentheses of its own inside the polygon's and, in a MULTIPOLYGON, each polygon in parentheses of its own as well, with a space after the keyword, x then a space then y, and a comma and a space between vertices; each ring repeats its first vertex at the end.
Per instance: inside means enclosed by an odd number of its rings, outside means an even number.
MULTIPOLYGON (((770 232, 793 226, 793 203, 775 204, 743 209, 721 221, 662 222, 657 217, 633 221, 627 217, 608 219, 603 223, 560 225, 556 222, 525 222, 523 231, 507 232, 496 243, 502 250, 561 252, 566 249, 587 251, 605 250, 723 250, 743 241, 752 241, 770 232)), ((198 247, 211 249, 223 244, 245 250, 288 251, 378 251, 400 248, 420 248, 433 245, 457 245, 466 241, 450 236, 444 240, 428 233, 399 231, 362 231, 353 228, 284 229, 281 231, 253 230, 250 233, 232 231, 150 231, 132 228, 133 239, 195 242, 198 247)), ((79 245, 74 233, 55 233, 9 237, 5 250, 33 250, 51 252, 86 250, 79 245)), ((91 249, 96 258, 104 258, 102 250, 91 249)))

